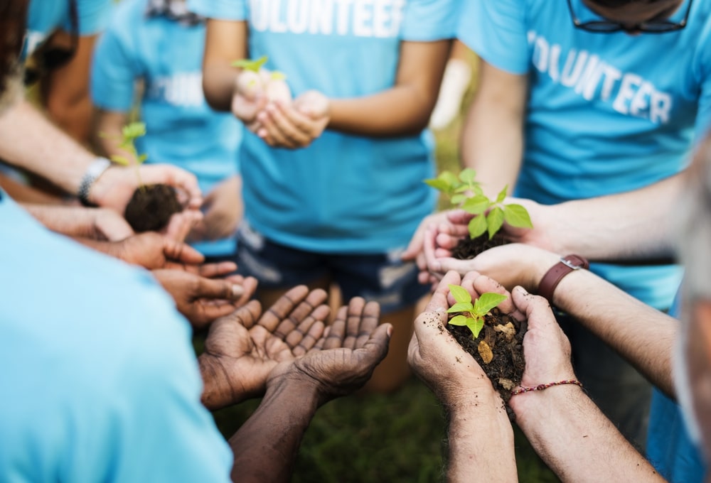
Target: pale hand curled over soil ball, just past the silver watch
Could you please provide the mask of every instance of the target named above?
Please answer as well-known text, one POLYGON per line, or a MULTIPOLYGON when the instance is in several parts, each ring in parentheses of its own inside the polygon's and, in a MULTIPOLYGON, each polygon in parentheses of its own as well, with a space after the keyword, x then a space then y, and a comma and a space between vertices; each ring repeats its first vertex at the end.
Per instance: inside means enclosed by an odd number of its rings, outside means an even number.
POLYGON ((197 209, 202 204, 198 180, 192 173, 167 164, 144 164, 139 166, 138 170, 140 176, 136 175, 133 167, 112 165, 92 186, 90 201, 123 213, 140 183, 164 183, 176 188, 178 201, 184 207, 197 209))

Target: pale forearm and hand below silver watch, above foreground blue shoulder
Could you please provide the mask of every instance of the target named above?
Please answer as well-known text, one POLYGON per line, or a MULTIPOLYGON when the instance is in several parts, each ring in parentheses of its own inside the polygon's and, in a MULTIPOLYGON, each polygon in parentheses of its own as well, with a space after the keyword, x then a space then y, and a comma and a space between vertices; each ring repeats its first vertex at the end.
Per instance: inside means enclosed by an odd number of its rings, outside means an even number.
POLYGON ((58 205, 22 206, 53 232, 103 241, 120 241, 134 234, 128 222, 108 208, 86 208, 58 205))

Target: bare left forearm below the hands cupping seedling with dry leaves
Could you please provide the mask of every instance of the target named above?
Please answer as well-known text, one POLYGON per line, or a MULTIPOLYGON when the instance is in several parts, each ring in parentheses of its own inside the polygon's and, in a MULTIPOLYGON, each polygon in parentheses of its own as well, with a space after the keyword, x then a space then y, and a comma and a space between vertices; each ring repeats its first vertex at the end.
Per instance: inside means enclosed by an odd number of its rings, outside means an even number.
POLYGON ((476 403, 449 411, 447 481, 518 481, 513 448, 513 428, 499 398, 479 398, 476 403))

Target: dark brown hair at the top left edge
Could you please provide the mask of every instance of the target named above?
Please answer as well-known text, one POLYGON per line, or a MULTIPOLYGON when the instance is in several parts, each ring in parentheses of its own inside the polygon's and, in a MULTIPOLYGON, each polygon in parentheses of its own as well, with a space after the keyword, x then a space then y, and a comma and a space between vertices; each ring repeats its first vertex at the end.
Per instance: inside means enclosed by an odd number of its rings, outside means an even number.
POLYGON ((0 0, 0 94, 19 68, 28 0, 0 0))

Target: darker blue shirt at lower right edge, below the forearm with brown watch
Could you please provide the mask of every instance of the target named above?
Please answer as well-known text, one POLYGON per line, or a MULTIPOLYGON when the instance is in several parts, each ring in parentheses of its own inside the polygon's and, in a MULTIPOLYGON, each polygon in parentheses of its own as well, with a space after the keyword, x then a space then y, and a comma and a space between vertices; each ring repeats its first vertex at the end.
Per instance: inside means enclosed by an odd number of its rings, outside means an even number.
MULTIPOLYGON (((670 315, 679 316, 679 294, 670 315)), ((701 483, 707 465, 684 424, 681 407, 659 389, 652 391, 647 458, 669 483, 701 483)))

